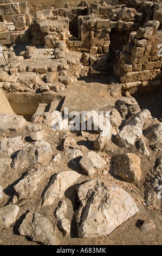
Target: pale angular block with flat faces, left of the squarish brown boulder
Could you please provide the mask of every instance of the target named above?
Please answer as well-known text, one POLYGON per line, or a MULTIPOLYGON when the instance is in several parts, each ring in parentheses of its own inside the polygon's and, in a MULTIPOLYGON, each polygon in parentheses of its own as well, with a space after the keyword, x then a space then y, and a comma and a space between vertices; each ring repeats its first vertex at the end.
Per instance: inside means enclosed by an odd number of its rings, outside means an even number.
POLYGON ((82 157, 79 164, 88 175, 91 175, 95 174, 97 170, 102 169, 105 166, 106 161, 95 151, 90 151, 82 157))

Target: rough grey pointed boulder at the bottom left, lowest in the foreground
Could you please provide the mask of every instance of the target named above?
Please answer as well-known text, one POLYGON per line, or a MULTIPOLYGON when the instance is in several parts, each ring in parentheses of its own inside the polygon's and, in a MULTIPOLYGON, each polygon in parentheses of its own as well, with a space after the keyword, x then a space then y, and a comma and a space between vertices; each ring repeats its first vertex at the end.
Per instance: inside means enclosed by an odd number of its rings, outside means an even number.
POLYGON ((21 235, 43 245, 56 245, 54 226, 51 221, 38 212, 29 211, 18 229, 21 235))

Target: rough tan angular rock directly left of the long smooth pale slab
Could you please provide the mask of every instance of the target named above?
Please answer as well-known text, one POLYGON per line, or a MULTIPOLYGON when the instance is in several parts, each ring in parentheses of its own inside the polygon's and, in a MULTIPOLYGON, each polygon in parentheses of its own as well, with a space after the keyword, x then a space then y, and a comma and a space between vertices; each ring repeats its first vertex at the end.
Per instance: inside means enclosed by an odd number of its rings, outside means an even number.
POLYGON ((14 190, 17 192, 18 199, 33 198, 41 186, 41 182, 46 178, 47 174, 51 172, 49 167, 40 169, 30 168, 27 175, 24 176, 15 186, 14 190))

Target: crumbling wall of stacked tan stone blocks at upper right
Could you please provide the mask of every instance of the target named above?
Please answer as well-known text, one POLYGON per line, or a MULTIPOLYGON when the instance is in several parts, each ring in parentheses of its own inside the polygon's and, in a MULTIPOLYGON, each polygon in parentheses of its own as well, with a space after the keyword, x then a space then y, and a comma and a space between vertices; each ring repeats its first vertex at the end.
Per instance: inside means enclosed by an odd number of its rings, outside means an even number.
POLYGON ((130 34, 123 51, 116 52, 114 74, 120 77, 124 90, 134 93, 142 88, 147 92, 161 87, 162 32, 155 33, 158 26, 158 21, 145 23, 130 34))

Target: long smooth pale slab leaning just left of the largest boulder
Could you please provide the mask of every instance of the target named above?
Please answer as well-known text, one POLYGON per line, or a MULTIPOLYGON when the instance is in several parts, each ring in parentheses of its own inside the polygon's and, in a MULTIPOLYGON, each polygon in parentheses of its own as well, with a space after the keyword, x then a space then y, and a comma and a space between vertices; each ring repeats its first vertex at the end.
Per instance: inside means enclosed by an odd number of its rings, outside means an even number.
POLYGON ((81 174, 73 170, 59 172, 54 175, 43 196, 42 206, 51 205, 63 196, 68 187, 72 186, 81 174))

